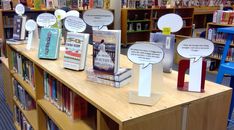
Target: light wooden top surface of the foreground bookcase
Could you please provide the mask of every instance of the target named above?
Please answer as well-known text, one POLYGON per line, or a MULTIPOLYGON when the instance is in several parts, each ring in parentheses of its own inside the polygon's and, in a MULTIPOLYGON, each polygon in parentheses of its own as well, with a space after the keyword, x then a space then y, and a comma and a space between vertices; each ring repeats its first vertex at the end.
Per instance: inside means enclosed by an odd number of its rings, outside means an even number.
MULTIPOLYGON (((32 60, 36 66, 58 79, 120 125, 126 122, 143 121, 146 117, 153 117, 167 108, 188 104, 209 96, 216 96, 219 93, 231 92, 231 88, 209 81, 205 82, 205 93, 178 91, 176 87, 178 74, 172 71, 172 73, 163 74, 164 85, 162 90, 164 95, 157 104, 151 107, 130 104, 128 102, 128 92, 132 88, 131 84, 122 88, 114 88, 87 81, 85 71, 78 72, 63 68, 64 51, 60 51, 60 57, 57 60, 41 60, 37 57, 36 50, 24 51, 25 44, 10 46, 20 51, 22 55, 32 60), (141 118, 143 116, 144 118, 141 118)), ((91 66, 92 63, 91 52, 92 46, 89 46, 87 66, 91 66)), ((132 63, 126 56, 121 55, 120 59, 121 67, 132 68, 132 63)))

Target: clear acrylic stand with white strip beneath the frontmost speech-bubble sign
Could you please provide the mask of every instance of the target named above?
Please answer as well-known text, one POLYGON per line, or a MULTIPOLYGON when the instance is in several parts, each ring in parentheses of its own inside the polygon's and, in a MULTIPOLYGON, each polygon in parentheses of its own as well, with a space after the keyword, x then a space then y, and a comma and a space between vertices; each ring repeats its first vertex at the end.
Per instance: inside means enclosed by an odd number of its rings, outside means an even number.
POLYGON ((162 97, 163 65, 150 64, 145 69, 133 64, 133 88, 129 91, 129 103, 152 106, 162 97), (147 78, 147 79, 146 79, 147 78))

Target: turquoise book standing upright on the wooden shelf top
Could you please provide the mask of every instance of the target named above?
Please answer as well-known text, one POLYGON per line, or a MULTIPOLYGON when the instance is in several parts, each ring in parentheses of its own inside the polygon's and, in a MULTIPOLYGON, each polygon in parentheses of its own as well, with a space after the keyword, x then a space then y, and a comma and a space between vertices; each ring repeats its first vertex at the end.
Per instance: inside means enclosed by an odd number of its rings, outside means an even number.
POLYGON ((42 28, 40 33, 38 57, 57 59, 60 49, 61 30, 58 28, 42 28))

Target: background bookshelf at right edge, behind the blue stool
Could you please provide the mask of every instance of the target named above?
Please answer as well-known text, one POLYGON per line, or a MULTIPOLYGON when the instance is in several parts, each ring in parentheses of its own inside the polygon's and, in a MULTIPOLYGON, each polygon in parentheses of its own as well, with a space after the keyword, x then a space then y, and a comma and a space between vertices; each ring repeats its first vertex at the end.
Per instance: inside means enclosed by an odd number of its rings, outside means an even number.
MULTIPOLYGON (((206 27, 206 38, 214 43, 214 52, 209 56, 208 71, 211 73, 217 73, 219 64, 222 58, 223 49, 226 41, 227 35, 223 33, 218 33, 217 28, 230 27, 234 25, 230 24, 216 24, 208 23, 206 27)), ((234 61, 234 44, 230 45, 226 61, 234 61)))

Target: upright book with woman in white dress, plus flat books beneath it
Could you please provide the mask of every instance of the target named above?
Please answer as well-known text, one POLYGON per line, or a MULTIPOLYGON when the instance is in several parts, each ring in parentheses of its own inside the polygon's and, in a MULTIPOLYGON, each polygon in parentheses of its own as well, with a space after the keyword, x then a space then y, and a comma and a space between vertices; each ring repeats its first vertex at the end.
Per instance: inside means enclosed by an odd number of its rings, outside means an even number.
POLYGON ((87 68, 87 80, 122 87, 130 82, 131 70, 119 67, 120 30, 93 31, 93 68, 87 68))

